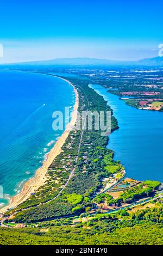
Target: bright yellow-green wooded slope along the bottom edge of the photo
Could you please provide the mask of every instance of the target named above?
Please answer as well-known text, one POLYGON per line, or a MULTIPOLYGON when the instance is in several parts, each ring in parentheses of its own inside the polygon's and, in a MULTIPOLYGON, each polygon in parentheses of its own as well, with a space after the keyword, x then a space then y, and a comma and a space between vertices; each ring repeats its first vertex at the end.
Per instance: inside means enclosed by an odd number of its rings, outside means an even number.
POLYGON ((32 228, 0 229, 1 245, 162 245, 162 226, 140 224, 116 229, 113 233, 67 227, 48 232, 32 228))

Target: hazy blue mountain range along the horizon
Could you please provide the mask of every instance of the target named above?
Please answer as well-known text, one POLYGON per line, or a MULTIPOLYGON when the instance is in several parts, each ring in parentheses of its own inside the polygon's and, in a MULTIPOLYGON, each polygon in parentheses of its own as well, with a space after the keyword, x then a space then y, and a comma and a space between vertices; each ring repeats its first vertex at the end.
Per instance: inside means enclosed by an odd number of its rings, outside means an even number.
POLYGON ((108 59, 96 59, 96 58, 58 58, 51 60, 41 60, 35 62, 23 62, 23 63, 12 63, 12 64, 1 64, 1 66, 9 65, 36 65, 36 66, 47 66, 47 65, 125 65, 125 66, 162 66, 163 57, 147 58, 137 61, 118 61, 108 59))

